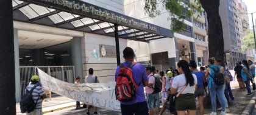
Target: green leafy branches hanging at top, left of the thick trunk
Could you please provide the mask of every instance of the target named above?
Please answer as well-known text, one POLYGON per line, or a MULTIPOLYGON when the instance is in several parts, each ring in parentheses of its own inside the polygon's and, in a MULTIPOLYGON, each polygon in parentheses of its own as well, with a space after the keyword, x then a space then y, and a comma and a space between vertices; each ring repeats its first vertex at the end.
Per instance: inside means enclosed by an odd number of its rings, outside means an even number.
MULTIPOLYGON (((187 0, 144 0, 144 11, 151 18, 160 15, 159 5, 165 7, 169 13, 169 20, 171 21, 171 30, 179 32, 185 27, 184 19, 191 17, 196 11, 201 12, 202 6, 199 0, 193 0, 194 4, 187 0)), ((197 15, 198 17, 199 15, 197 15)))

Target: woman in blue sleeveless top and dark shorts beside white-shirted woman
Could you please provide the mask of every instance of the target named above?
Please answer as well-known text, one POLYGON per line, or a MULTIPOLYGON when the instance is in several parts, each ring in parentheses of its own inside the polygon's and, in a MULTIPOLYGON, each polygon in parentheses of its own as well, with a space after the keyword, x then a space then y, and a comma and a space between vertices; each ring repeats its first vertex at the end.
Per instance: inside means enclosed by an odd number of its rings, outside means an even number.
POLYGON ((197 70, 196 61, 190 61, 190 70, 193 74, 196 75, 197 78, 197 86, 194 95, 197 97, 199 102, 200 114, 204 115, 204 73, 197 70))

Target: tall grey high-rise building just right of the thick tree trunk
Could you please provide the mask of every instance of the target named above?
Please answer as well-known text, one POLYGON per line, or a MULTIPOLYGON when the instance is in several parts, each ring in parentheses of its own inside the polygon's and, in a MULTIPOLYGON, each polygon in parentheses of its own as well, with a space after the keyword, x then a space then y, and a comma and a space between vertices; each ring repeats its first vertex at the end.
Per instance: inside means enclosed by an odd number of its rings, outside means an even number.
POLYGON ((220 1, 219 15, 222 22, 227 66, 233 69, 235 61, 246 59, 246 54, 241 52, 241 38, 244 31, 238 1, 220 1))

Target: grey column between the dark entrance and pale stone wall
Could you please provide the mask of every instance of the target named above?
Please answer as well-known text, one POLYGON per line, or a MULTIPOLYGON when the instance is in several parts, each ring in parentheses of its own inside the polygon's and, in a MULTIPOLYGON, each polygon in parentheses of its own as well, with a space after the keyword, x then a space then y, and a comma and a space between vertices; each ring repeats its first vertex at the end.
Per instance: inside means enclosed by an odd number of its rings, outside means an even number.
POLYGON ((80 76, 80 83, 83 83, 83 65, 82 65, 82 47, 81 47, 81 38, 80 37, 73 37, 71 40, 71 57, 72 57, 72 64, 75 68, 75 76, 80 76))

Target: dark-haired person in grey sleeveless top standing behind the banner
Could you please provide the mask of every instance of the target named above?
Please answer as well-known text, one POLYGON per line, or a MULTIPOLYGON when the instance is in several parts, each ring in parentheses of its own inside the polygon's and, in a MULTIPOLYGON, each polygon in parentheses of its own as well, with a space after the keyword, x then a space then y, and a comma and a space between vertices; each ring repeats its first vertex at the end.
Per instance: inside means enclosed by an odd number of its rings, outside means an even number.
MULTIPOLYGON (((97 82, 97 81, 96 81, 96 77, 93 76, 93 68, 90 68, 88 71, 89 71, 89 75, 87 75, 87 76, 85 77, 85 83, 96 83, 96 82, 97 82)), ((88 104, 87 104, 87 113, 86 113, 86 114, 90 114, 90 112, 89 112, 90 106, 91 106, 91 105, 88 105, 88 104)), ((93 114, 98 114, 98 112, 97 112, 97 107, 96 107, 96 106, 93 106, 93 111, 94 111, 93 114)))

